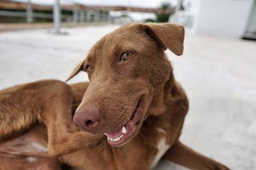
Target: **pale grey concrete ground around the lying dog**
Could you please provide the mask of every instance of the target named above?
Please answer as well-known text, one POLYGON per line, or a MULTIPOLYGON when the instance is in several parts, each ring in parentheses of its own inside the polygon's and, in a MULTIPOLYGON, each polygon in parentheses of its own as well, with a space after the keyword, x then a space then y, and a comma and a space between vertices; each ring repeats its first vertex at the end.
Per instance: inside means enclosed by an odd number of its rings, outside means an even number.
MULTIPOLYGON (((117 25, 0 33, 0 89, 65 80, 90 47, 117 25)), ((186 35, 182 57, 167 52, 190 110, 181 141, 231 169, 256 169, 256 43, 186 35)), ((88 80, 79 74, 74 80, 88 80)), ((166 160, 155 170, 184 169, 166 160)))

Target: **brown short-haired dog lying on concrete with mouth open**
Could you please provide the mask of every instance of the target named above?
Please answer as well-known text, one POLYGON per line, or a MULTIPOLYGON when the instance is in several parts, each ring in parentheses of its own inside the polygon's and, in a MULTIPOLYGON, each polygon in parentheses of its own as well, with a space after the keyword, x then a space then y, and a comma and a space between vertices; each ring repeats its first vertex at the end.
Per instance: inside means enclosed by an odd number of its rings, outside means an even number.
MULTIPOLYGON (((184 27, 176 24, 116 29, 70 75, 86 71, 90 84, 45 80, 2 90, 1 138, 42 122, 49 155, 77 168, 152 169, 164 157, 191 169, 227 169, 179 142, 188 99, 164 50, 182 55, 183 41, 184 27)), ((42 158, 41 153, 19 154, 42 158)))

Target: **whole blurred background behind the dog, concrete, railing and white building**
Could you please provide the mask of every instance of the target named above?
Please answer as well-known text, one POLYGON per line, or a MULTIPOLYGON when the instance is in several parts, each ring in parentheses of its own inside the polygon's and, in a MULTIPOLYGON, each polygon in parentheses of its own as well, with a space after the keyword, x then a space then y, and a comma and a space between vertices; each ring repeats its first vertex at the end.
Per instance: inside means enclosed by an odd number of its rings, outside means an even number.
MULTIPOLYGON (((185 25, 184 55, 166 51, 190 101, 181 141, 231 169, 256 169, 255 0, 0 1, 0 89, 65 80, 129 22, 185 25)), ((162 160, 160 169, 185 168, 162 160)))

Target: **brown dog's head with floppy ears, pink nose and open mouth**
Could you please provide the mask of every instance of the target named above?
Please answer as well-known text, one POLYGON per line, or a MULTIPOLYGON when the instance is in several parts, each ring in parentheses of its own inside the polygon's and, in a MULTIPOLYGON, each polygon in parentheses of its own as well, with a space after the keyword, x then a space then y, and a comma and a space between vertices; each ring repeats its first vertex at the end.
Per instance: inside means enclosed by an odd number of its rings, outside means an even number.
POLYGON ((92 134, 106 134, 120 146, 135 136, 148 115, 164 111, 172 67, 164 50, 182 55, 184 27, 127 24, 101 38, 70 75, 86 71, 90 85, 74 123, 92 134))

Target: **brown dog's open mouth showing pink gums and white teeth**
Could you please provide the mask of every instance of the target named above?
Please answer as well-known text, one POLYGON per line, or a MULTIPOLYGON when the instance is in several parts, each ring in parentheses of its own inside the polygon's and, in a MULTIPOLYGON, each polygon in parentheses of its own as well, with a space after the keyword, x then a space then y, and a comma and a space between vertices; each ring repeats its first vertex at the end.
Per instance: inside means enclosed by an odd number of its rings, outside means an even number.
POLYGON ((113 132, 105 133, 108 138, 108 143, 111 146, 124 145, 126 141, 136 132, 140 118, 143 113, 143 97, 140 97, 136 108, 134 109, 130 120, 122 127, 113 132))

